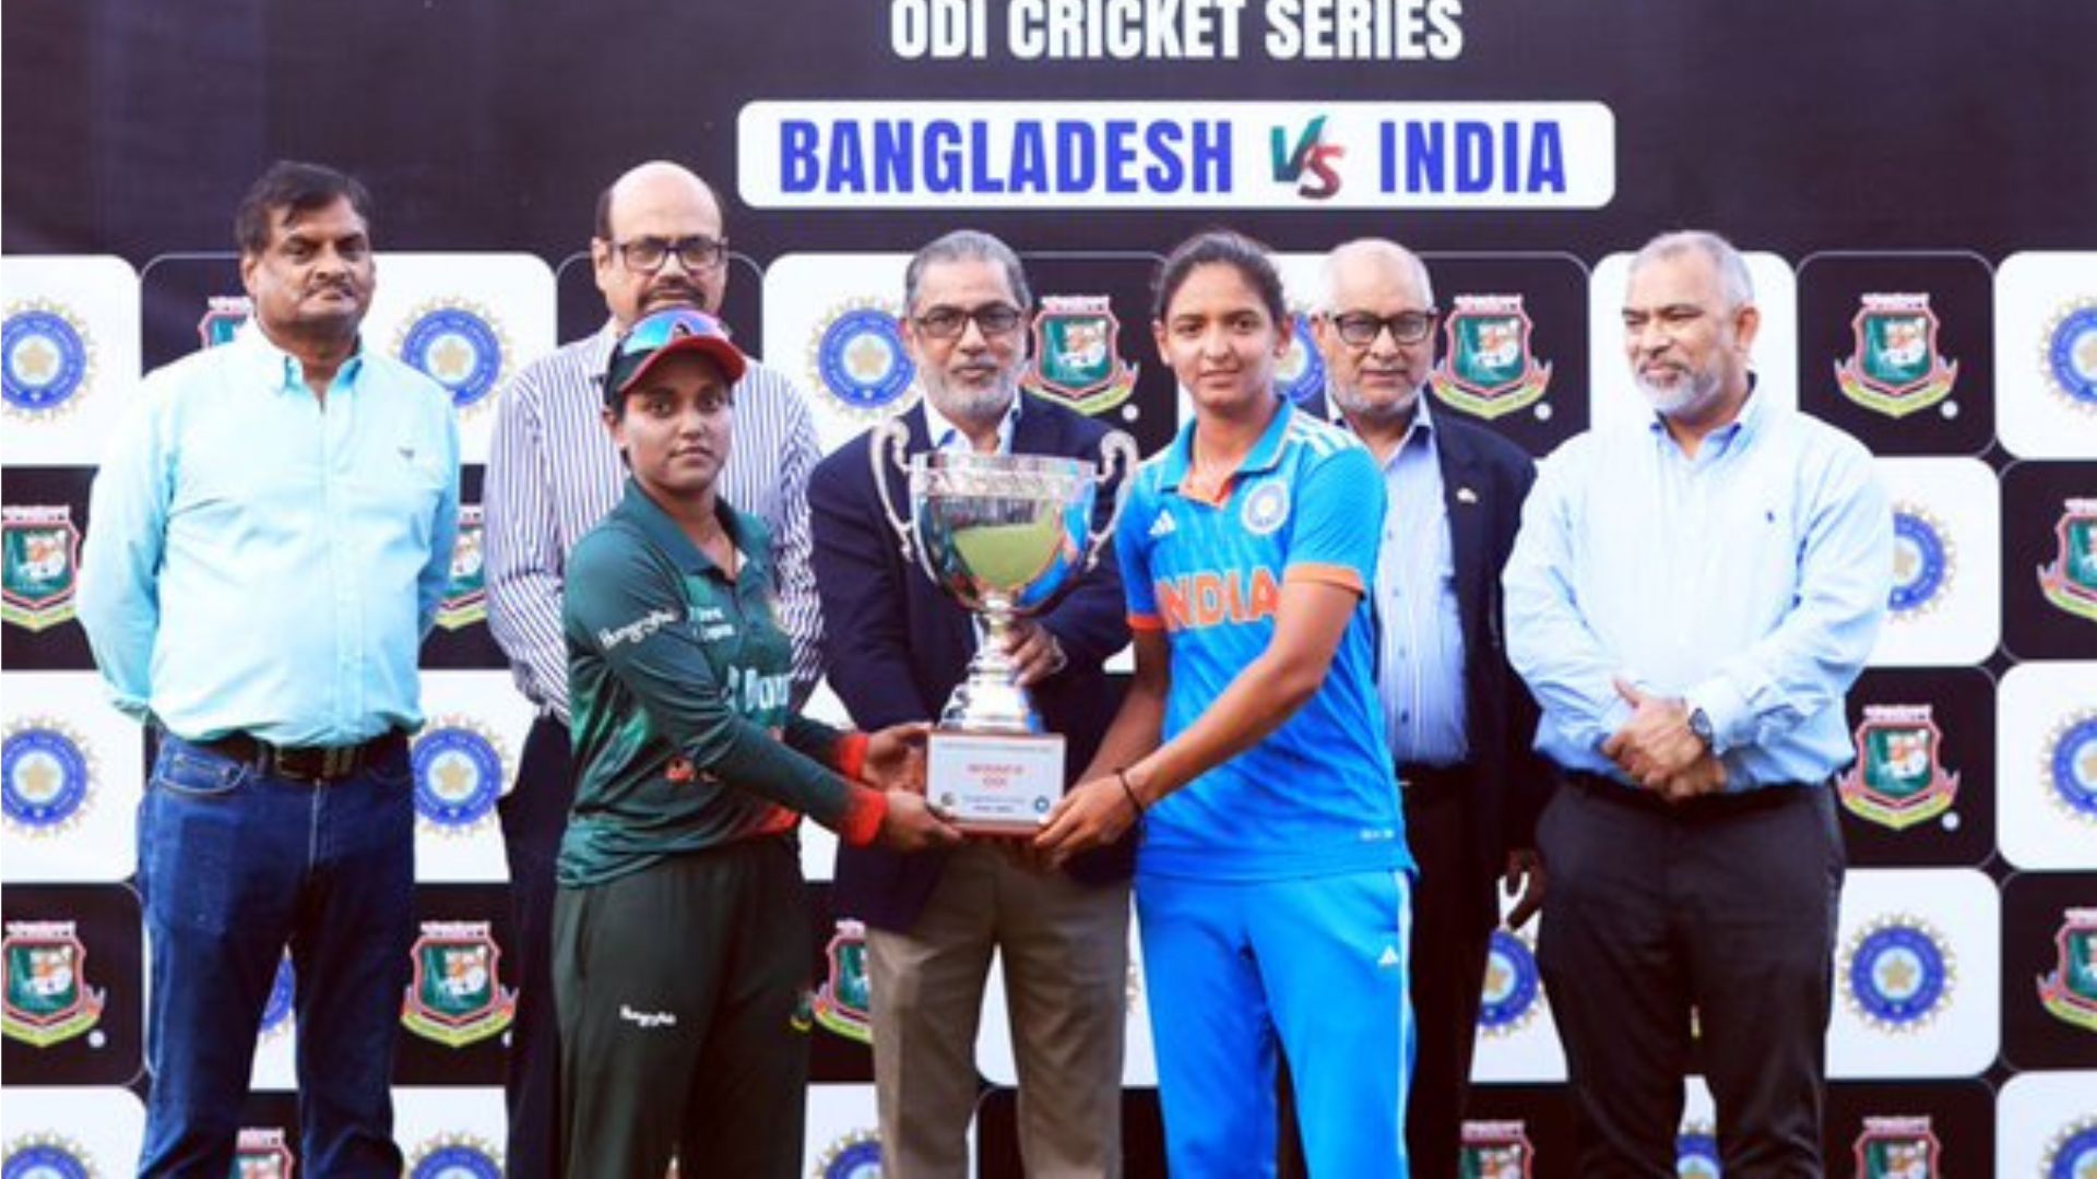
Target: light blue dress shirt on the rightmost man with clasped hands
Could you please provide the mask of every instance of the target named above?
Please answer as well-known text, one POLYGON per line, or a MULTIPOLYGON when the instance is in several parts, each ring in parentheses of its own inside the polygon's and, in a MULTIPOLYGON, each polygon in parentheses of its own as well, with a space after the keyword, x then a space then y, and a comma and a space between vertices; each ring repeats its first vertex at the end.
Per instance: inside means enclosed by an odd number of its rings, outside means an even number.
POLYGON ((1751 394, 1690 459, 1652 417, 1543 462, 1501 577, 1537 749, 1602 755, 1631 709, 1610 680, 1711 717, 1728 783, 1820 783, 1854 755, 1843 692, 1877 642, 1894 516, 1856 438, 1751 394))

